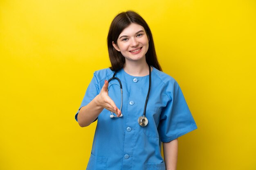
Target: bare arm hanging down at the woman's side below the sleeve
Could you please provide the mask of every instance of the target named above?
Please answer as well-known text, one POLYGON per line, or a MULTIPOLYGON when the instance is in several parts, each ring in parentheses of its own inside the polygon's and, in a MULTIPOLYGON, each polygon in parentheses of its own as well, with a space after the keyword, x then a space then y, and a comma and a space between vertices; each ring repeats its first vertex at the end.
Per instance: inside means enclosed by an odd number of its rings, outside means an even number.
POLYGON ((166 170, 176 170, 178 159, 178 139, 163 142, 164 161, 166 170))

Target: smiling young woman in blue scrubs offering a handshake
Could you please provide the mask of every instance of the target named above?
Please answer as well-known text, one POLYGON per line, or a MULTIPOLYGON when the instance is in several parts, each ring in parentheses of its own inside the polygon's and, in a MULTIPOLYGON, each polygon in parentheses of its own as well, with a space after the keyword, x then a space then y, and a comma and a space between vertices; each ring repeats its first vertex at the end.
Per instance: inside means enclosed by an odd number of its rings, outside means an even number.
POLYGON ((108 53, 111 67, 94 72, 75 116, 81 127, 98 119, 87 169, 175 170, 177 138, 197 126, 180 86, 162 72, 138 13, 114 18, 108 53))

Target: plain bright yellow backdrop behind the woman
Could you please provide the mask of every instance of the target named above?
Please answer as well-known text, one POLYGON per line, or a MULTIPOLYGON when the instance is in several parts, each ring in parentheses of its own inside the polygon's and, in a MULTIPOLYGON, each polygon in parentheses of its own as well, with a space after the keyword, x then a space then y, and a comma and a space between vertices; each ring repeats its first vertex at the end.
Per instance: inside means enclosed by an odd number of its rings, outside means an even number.
POLYGON ((74 115, 128 9, 198 125, 179 138, 177 170, 256 170, 254 0, 0 0, 0 170, 85 170, 96 123, 74 115))

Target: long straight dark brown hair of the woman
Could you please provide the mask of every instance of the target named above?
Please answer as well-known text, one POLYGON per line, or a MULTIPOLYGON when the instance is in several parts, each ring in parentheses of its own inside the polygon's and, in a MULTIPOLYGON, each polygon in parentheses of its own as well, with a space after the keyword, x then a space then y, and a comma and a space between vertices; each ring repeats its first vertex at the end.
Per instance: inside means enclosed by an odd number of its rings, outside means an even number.
POLYGON ((108 55, 111 63, 110 69, 112 71, 118 71, 124 67, 125 58, 121 54, 121 52, 117 51, 113 45, 112 41, 117 44, 117 39, 121 32, 128 27, 131 23, 136 23, 144 27, 146 31, 146 35, 148 36, 148 51, 146 52, 146 62, 149 65, 152 65, 157 70, 162 71, 161 66, 157 61, 157 54, 155 52, 155 46, 153 41, 153 36, 150 31, 150 28, 146 21, 135 11, 126 11, 119 13, 113 19, 112 23, 110 24, 110 28, 108 31, 108 55))

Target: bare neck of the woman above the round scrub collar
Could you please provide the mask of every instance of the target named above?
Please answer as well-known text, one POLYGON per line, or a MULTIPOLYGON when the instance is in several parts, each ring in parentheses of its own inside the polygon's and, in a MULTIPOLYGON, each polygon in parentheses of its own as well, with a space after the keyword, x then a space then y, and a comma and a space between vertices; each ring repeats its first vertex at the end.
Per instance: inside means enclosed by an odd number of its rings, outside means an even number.
POLYGON ((126 63, 124 64, 124 71, 131 76, 146 76, 149 74, 146 59, 136 62, 126 60, 126 63))

